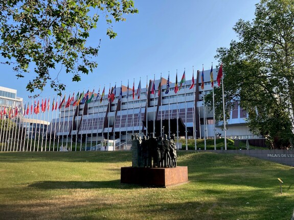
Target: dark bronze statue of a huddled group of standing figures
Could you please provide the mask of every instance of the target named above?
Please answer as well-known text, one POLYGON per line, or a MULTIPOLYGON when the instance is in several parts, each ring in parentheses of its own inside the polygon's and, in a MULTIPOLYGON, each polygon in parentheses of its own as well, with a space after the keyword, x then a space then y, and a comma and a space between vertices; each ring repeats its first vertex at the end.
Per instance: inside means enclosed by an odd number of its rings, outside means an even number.
POLYGON ((132 135, 133 167, 176 167, 175 135, 143 138, 132 135))

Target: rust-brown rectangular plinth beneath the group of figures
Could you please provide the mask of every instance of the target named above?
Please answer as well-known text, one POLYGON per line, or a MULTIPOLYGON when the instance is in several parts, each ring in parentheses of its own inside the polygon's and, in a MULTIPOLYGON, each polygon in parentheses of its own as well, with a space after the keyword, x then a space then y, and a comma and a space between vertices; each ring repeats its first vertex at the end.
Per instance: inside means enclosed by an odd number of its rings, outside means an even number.
POLYGON ((167 168, 121 167, 121 183, 167 187, 188 182, 188 166, 167 168))

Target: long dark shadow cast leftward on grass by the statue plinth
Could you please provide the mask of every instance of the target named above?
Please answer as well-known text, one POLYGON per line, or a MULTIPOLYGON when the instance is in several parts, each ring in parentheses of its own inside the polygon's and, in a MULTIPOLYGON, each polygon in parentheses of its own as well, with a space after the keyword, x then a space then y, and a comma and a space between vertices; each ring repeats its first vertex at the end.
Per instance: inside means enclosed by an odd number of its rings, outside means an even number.
POLYGON ((110 181, 41 181, 35 182, 29 187, 38 189, 94 189, 94 188, 112 188, 112 189, 133 189, 146 188, 135 184, 122 184, 120 180, 110 181))

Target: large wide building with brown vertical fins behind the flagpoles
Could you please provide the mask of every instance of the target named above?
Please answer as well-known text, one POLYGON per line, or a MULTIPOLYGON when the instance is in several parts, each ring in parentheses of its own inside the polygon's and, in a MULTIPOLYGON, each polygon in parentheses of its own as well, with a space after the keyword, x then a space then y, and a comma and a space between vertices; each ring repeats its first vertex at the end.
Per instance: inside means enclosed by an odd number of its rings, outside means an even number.
MULTIPOLYGON (((181 76, 178 75, 178 79, 181 76)), ((198 72, 193 88, 190 88, 192 79, 186 80, 181 88, 178 80, 176 93, 176 82, 170 80, 168 83, 164 78, 155 82, 148 80, 147 85, 146 81, 142 81, 141 85, 145 86, 139 85, 134 91, 134 86, 109 86, 110 94, 105 94, 102 99, 97 98, 96 93, 91 99, 92 93, 87 92, 84 101, 78 105, 74 105, 74 101, 70 105, 64 102, 59 117, 52 120, 48 133, 54 133, 63 141, 82 140, 91 143, 91 146, 109 139, 119 139, 119 143, 124 144, 131 139, 132 134, 175 134, 179 138, 223 136, 223 122, 214 124, 213 112, 203 105, 203 91, 207 94, 212 90, 210 70, 204 71, 203 76, 203 90, 201 73, 198 72)), ((216 69, 213 70, 213 76, 216 84, 216 69)), ((227 137, 259 138, 246 126, 246 117, 246 112, 236 103, 227 121, 227 137)))

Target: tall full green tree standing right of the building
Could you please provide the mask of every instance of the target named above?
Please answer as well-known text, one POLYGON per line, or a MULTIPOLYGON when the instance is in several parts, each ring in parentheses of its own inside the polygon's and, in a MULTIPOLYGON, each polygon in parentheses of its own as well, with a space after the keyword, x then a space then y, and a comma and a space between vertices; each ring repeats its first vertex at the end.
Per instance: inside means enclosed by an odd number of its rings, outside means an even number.
MULTIPOLYGON (((251 131, 268 138, 272 148, 285 148, 294 137, 294 1, 261 0, 255 16, 236 23, 239 41, 217 50, 225 104, 228 110, 238 102, 251 131)), ((220 118, 220 88, 215 93, 220 118)))

